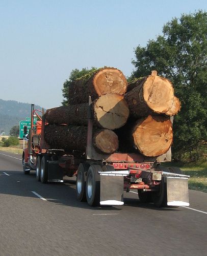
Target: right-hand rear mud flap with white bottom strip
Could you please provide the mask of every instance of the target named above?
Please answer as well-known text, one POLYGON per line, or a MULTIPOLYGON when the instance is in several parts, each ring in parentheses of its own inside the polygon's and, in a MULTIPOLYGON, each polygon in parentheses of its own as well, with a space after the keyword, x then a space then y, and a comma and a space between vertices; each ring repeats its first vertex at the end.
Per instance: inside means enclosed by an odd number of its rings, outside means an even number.
POLYGON ((189 206, 188 178, 166 177, 167 205, 189 206))

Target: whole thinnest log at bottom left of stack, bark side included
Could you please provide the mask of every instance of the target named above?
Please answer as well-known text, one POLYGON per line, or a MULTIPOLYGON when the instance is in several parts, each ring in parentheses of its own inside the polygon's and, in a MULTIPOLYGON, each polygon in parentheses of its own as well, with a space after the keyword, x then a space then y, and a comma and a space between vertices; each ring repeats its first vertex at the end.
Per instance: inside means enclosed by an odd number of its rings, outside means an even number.
MULTIPOLYGON (((87 127, 75 125, 45 125, 45 141, 51 148, 65 151, 86 152, 87 127)), ((93 146, 101 153, 112 154, 119 146, 117 135, 107 129, 95 129, 93 132, 93 146)))

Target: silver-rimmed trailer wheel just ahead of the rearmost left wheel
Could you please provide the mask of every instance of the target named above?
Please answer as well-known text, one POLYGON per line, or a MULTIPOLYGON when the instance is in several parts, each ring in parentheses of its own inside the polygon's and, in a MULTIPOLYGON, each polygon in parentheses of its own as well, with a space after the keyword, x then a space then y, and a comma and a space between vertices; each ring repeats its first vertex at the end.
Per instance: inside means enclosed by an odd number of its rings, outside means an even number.
POLYGON ((89 166, 88 163, 81 163, 77 169, 76 196, 80 202, 86 202, 86 172, 89 166))

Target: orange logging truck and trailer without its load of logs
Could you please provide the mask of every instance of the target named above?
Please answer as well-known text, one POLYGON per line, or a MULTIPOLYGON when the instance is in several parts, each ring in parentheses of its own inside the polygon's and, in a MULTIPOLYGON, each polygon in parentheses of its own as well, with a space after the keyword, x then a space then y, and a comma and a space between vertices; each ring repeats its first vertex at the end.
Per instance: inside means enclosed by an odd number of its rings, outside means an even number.
POLYGON ((177 168, 162 169, 162 162, 171 161, 171 151, 160 157, 134 153, 99 154, 92 144, 93 120, 88 111, 86 154, 51 148, 44 139, 47 120, 44 110, 31 108, 31 129, 27 148, 22 154, 23 173, 36 170, 42 183, 63 182, 63 177, 76 176, 76 197, 90 206, 123 205, 123 191, 138 191, 141 202, 157 207, 189 206, 188 178, 177 168), (34 115, 38 117, 33 124, 34 115))

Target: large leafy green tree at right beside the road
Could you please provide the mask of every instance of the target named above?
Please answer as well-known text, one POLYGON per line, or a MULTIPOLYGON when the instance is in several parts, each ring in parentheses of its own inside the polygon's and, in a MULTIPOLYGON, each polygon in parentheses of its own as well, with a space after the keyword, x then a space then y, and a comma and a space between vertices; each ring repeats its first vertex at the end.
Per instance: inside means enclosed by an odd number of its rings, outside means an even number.
POLYGON ((174 118, 173 152, 196 152, 207 139, 207 12, 198 11, 173 18, 163 35, 135 49, 135 71, 131 79, 157 70, 170 79, 182 103, 174 118))

